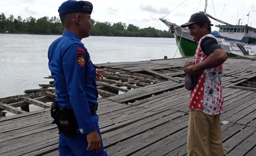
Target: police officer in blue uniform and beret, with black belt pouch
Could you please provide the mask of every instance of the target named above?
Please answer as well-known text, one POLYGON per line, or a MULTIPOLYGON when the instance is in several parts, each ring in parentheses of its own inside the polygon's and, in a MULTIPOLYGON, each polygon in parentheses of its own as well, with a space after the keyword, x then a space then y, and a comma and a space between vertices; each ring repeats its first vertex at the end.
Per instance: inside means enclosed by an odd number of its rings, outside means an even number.
MULTIPOLYGON (((63 36, 48 50, 49 69, 54 78, 55 121, 59 129, 60 156, 106 156, 98 126, 96 88, 102 77, 90 60, 82 38, 90 35, 93 5, 68 0, 58 9, 63 36)), ((103 78, 103 77, 102 77, 103 78)))

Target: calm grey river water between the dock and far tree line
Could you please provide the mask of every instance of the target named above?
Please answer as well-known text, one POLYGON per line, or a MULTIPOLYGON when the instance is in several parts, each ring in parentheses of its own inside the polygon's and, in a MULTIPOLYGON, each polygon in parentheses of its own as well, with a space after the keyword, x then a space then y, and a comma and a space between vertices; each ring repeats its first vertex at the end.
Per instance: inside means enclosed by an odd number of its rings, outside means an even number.
MULTIPOLYGON (((0 34, 0 98, 48 84, 47 50, 60 35, 0 34)), ((94 64, 172 58, 174 38, 103 37, 82 39, 94 64)), ((179 51, 175 57, 181 57, 179 51)), ((33 109, 33 108, 32 108, 33 109)))

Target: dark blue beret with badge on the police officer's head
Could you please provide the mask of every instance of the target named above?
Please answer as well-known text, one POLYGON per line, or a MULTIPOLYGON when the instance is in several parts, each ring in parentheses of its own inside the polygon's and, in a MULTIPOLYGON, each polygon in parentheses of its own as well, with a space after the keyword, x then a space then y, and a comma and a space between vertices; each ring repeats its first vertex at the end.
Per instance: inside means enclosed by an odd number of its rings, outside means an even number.
POLYGON ((61 4, 58 9, 59 15, 71 14, 71 13, 86 13, 91 14, 93 11, 93 4, 88 1, 75 1, 68 0, 61 4))

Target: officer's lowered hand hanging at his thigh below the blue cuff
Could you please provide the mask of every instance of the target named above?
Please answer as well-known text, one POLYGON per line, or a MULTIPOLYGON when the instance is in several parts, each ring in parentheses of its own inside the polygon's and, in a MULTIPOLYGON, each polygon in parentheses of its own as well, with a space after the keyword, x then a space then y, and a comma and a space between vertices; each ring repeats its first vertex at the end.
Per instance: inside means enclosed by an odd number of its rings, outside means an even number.
POLYGON ((99 152, 99 149, 101 147, 101 143, 100 143, 100 138, 99 138, 99 134, 97 133, 97 131, 92 131, 90 133, 86 134, 86 138, 88 141, 88 147, 87 147, 87 151, 94 151, 96 150, 96 153, 99 152))

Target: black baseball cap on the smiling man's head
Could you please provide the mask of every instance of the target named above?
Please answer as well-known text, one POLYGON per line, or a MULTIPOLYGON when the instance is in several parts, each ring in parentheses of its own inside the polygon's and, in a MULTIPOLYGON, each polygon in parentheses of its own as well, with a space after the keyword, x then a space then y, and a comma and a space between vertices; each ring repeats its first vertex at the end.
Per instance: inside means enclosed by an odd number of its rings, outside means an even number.
POLYGON ((191 15, 189 22, 182 24, 181 27, 185 28, 194 23, 207 23, 210 26, 213 26, 213 24, 211 24, 211 21, 209 20, 209 18, 204 13, 199 12, 199 13, 194 13, 193 15, 191 15))

